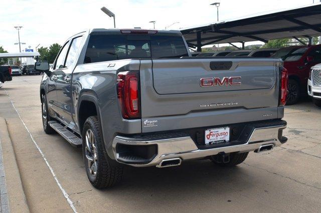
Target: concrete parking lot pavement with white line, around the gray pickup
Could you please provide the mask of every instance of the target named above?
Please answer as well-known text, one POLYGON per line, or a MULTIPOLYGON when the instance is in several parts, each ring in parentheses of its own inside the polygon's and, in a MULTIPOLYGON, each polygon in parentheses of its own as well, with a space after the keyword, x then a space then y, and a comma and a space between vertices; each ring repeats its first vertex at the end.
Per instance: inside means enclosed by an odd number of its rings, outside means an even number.
POLYGON ((252 152, 237 167, 208 160, 128 167, 121 185, 97 190, 87 180, 81 149, 43 131, 41 77, 15 76, 0 89, 0 117, 32 212, 320 212, 321 109, 312 102, 286 107, 286 144, 252 152))

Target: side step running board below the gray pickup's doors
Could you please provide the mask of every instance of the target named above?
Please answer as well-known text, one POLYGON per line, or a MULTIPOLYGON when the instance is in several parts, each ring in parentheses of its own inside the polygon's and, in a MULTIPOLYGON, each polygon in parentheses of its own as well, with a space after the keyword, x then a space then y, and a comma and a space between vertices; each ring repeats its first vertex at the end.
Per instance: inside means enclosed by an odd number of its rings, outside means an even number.
POLYGON ((82 146, 82 140, 72 132, 70 132, 66 127, 62 126, 56 121, 48 122, 49 126, 53 128, 59 135, 66 139, 71 145, 80 148, 82 146))

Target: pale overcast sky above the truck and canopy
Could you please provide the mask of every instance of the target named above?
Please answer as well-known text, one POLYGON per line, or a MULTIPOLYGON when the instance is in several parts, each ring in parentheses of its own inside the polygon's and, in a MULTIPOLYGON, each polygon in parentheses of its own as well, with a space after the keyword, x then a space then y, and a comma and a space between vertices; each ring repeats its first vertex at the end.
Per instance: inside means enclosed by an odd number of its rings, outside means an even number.
MULTIPOLYGON (((235 19, 252 14, 310 5, 313 0, 0 0, 0 46, 8 52, 19 52, 18 32, 22 49, 63 44, 70 36, 89 28, 113 28, 113 19, 100 8, 106 7, 116 16, 117 28, 141 27, 156 29, 175 24, 169 29, 214 23, 217 20, 214 2, 220 2, 219 20, 235 19)), ((315 0, 314 2, 318 2, 315 0)))

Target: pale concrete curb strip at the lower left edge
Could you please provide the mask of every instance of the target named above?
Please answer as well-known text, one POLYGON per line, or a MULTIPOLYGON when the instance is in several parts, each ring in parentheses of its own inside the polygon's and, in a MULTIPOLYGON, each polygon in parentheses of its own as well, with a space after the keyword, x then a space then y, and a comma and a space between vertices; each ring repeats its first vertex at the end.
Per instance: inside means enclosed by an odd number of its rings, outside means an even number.
POLYGON ((4 118, 0 118, 0 140, 2 144, 10 212, 30 212, 7 123, 4 118))

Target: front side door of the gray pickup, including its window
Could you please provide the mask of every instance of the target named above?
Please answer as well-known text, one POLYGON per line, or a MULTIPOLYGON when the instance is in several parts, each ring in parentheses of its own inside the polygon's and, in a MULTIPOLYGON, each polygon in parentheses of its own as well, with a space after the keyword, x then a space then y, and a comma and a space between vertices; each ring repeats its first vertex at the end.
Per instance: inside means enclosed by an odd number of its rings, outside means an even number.
POLYGON ((50 76, 48 76, 48 88, 47 88, 47 102, 49 113, 53 117, 59 117, 58 113, 58 102, 57 102, 57 73, 60 72, 61 68, 63 68, 63 64, 65 62, 66 53, 69 48, 70 41, 66 42, 62 49, 60 50, 58 57, 55 61, 55 64, 51 70, 50 76))

